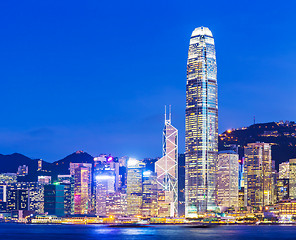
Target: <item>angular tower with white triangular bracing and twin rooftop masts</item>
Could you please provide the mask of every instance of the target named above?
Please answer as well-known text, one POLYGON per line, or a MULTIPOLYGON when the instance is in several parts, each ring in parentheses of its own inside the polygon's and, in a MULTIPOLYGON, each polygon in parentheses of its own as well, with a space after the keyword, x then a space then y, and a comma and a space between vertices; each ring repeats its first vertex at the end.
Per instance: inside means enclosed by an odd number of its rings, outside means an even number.
MULTIPOLYGON (((163 130, 163 157, 155 163, 158 189, 171 192, 170 199, 173 205, 173 216, 178 215, 178 130, 171 124, 171 110, 163 130)), ((168 199, 167 199, 168 201, 168 199)))

